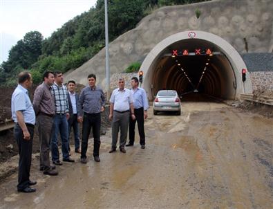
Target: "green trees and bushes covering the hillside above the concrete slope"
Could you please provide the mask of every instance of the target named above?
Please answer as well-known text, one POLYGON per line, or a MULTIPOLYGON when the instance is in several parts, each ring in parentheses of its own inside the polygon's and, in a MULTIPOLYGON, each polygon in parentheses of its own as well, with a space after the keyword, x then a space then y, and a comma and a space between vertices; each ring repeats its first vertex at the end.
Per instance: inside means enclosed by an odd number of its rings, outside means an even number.
MULTIPOLYGON (((135 28, 136 24, 160 6, 208 0, 109 0, 109 41, 135 28)), ((15 85, 19 71, 30 70, 35 84, 44 71, 76 69, 104 47, 104 0, 95 8, 69 20, 50 37, 30 31, 10 50, 8 60, 0 66, 0 84, 15 85)), ((138 62, 126 71, 137 72, 138 62)))

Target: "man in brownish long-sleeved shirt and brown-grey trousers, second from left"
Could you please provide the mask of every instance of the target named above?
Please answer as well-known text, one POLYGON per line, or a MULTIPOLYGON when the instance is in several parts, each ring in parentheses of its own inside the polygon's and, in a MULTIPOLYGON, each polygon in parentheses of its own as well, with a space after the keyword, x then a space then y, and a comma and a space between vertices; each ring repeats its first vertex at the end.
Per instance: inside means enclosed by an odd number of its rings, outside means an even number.
POLYGON ((56 176, 55 166, 50 166, 50 138, 55 115, 55 100, 50 90, 54 83, 51 71, 44 72, 44 82, 35 89, 33 108, 37 116, 37 127, 40 146, 40 170, 46 175, 56 176))

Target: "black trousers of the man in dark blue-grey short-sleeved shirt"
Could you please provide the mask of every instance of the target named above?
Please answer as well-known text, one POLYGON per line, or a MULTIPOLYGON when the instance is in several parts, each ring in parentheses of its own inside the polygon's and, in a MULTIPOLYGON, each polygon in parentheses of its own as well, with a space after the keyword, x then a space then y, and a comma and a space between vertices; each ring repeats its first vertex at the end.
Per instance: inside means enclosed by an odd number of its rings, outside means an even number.
POLYGON ((81 158, 86 158, 86 151, 88 145, 88 138, 91 128, 93 128, 94 149, 93 156, 100 154, 100 113, 84 113, 82 122, 82 154, 81 158))

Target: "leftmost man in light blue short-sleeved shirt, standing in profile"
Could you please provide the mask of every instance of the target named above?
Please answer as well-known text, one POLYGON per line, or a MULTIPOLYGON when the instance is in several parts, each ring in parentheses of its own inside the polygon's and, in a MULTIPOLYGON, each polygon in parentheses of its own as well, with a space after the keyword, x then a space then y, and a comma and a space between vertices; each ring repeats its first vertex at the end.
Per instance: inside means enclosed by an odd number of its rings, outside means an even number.
POLYGON ((18 75, 18 86, 12 93, 11 111, 15 120, 15 140, 19 148, 18 192, 35 192, 30 188, 36 181, 30 181, 30 165, 32 155, 32 140, 35 125, 35 111, 28 96, 32 86, 32 76, 28 72, 18 75))

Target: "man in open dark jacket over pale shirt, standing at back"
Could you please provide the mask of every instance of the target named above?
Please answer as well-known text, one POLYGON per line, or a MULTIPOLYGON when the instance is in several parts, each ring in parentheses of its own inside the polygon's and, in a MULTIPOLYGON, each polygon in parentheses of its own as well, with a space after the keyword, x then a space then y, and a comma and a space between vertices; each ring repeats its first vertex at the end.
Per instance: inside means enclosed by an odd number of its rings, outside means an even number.
POLYGON ((76 82, 74 80, 69 80, 67 84, 68 93, 68 107, 69 107, 69 119, 68 119, 68 150, 70 152, 69 146, 69 136, 71 128, 74 131, 74 141, 75 141, 75 152, 81 153, 79 149, 79 125, 77 122, 77 102, 79 101, 79 94, 75 92, 76 82))

